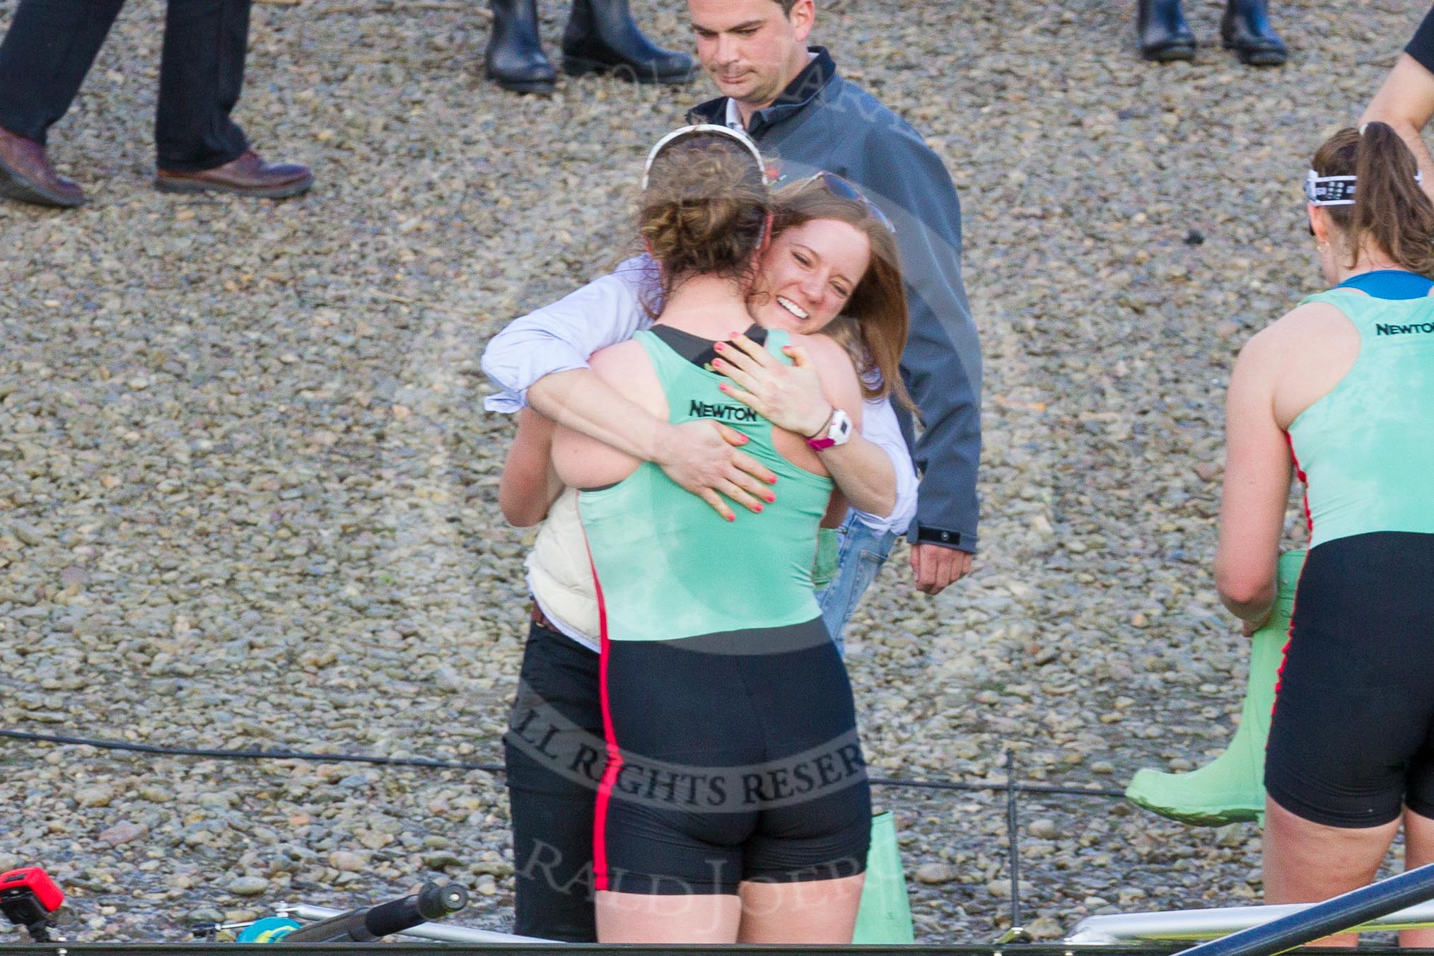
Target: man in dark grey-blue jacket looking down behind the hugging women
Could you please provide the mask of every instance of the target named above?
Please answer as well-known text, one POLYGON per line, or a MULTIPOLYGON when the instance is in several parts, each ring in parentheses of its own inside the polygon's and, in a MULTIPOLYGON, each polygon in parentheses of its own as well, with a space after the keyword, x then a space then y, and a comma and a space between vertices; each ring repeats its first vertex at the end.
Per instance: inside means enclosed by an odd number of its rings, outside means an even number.
MULTIPOLYGON (((916 130, 842 79, 825 47, 806 46, 813 0, 688 0, 688 10, 697 57, 724 93, 688 119, 746 129, 780 161, 783 182, 819 169, 845 176, 896 224, 911 310, 902 374, 923 424, 913 437, 902 423, 922 473, 906 537, 916 585, 936 593, 971 569, 981 454, 981 345, 951 175, 916 130)), ((847 533, 843 552, 850 543, 847 533)))

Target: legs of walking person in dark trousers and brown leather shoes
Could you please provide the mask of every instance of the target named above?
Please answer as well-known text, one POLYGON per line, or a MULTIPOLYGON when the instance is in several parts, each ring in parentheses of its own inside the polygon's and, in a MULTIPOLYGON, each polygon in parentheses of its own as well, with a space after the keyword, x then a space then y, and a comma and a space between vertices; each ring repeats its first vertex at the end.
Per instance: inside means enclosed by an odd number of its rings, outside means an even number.
MULTIPOLYGON (((169 0, 155 118, 165 192, 277 199, 314 182, 307 166, 268 163, 229 112, 244 85, 251 0, 169 0)), ((0 43, 0 196, 77 206, 85 192, 54 172, 46 133, 69 110, 125 0, 20 0, 0 43)))

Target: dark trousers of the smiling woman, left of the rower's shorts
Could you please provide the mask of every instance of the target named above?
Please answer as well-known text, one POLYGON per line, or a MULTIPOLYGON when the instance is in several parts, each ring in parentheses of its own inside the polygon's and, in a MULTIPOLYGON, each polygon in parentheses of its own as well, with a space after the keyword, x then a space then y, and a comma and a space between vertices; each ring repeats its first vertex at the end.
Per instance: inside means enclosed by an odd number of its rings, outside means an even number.
POLYGON ((533 623, 518 679, 503 738, 515 932, 594 943, 592 817, 605 748, 599 658, 533 623))

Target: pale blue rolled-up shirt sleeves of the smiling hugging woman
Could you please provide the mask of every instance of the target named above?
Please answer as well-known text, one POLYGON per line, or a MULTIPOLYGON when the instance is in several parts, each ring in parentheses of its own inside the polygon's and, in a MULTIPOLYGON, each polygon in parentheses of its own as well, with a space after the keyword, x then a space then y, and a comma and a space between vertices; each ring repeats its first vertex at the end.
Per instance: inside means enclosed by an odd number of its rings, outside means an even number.
MULTIPOLYGON (((509 322, 483 350, 483 373, 502 388, 488 396, 483 407, 512 414, 528 403, 528 388, 543 376, 587 368, 592 353, 651 325, 642 294, 652 288, 654 269, 644 255, 627 259, 576 292, 509 322)), ((888 398, 866 403, 862 434, 892 460, 896 506, 885 516, 856 512, 858 519, 876 533, 899 535, 916 515, 916 469, 888 398)))

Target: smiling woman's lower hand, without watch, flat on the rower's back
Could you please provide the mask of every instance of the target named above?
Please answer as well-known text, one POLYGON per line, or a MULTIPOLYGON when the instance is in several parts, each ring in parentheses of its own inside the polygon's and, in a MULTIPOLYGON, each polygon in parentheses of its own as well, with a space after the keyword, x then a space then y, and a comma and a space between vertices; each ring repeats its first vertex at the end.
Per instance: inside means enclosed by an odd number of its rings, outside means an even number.
POLYGON ((736 429, 716 421, 687 421, 670 426, 657 440, 652 462, 667 477, 711 505, 728 522, 737 520, 723 496, 749 512, 760 512, 763 502, 777 500, 771 492, 777 476, 757 459, 737 449, 749 439, 736 429))

